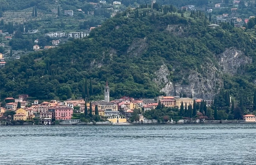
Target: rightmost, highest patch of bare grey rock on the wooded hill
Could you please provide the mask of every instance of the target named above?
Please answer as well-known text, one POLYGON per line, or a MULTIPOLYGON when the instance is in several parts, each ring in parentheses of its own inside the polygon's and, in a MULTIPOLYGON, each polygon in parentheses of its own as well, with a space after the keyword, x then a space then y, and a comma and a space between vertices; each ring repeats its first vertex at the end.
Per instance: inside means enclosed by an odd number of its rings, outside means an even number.
POLYGON ((219 64, 223 73, 235 74, 242 65, 252 62, 252 58, 245 56, 242 51, 235 48, 226 49, 218 55, 219 64))

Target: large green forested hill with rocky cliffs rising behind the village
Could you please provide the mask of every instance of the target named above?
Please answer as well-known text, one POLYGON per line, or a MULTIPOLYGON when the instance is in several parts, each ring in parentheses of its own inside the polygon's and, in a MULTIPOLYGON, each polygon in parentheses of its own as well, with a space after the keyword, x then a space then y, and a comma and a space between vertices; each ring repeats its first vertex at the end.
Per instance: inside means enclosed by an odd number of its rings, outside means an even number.
POLYGON ((107 79, 113 98, 152 98, 163 92, 214 98, 223 88, 231 96, 252 99, 255 32, 225 22, 216 29, 207 25, 201 12, 180 14, 168 6, 163 12, 127 10, 88 38, 8 63, 0 70, 1 98, 101 95, 107 79))

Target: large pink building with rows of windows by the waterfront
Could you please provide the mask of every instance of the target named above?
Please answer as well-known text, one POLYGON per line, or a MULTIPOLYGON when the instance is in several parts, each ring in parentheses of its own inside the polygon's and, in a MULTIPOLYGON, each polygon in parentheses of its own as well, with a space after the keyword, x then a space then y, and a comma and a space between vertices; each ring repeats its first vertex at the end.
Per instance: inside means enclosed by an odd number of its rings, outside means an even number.
POLYGON ((56 120, 71 120, 73 109, 68 106, 56 106, 55 107, 55 119, 56 120))

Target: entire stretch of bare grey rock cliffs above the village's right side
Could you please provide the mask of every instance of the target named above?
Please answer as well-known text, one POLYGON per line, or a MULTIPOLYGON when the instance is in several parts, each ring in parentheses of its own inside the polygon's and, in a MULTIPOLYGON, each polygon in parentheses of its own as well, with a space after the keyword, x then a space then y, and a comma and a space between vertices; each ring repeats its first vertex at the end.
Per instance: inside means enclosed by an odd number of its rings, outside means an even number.
POLYGON ((216 56, 216 60, 219 66, 214 66, 213 62, 207 63, 202 66, 203 73, 198 73, 195 70, 189 72, 188 77, 183 77, 183 80, 187 80, 187 83, 182 82, 173 83, 168 77, 170 72, 165 65, 155 73, 157 78, 154 80, 161 88, 162 92, 167 95, 185 93, 187 96, 193 95, 194 98, 213 99, 217 93, 218 88, 223 85, 223 74, 235 74, 237 68, 252 62, 252 59, 245 56, 243 52, 235 49, 226 49, 222 54, 216 56), (217 69, 220 68, 220 69, 217 69))

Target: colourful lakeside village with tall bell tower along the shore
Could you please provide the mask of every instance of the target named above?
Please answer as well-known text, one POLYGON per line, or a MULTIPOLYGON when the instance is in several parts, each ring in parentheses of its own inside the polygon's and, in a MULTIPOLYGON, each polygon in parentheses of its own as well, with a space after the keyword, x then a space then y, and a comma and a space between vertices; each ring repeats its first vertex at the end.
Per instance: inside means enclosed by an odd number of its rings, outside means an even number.
MULTIPOLYGON (((192 97, 192 96, 191 96, 192 97)), ((18 99, 6 98, 5 106, 0 107, 1 125, 71 125, 71 124, 183 124, 183 123, 225 123, 225 122, 256 122, 256 116, 243 115, 243 120, 207 120, 206 110, 214 100, 193 99, 179 96, 157 96, 155 99, 134 99, 123 96, 110 101, 110 88, 106 81, 104 100, 85 102, 84 99, 64 102, 51 100, 42 102, 38 100, 28 102, 28 95, 19 95, 18 99), (164 116, 164 121, 148 119, 144 115, 151 111, 153 116, 159 109, 167 108, 171 113, 174 109, 181 115, 174 121, 164 116), (200 109, 198 111, 198 109, 200 109), (201 111, 202 110, 202 111, 201 111), (153 112, 152 112, 153 111, 153 112), (187 117, 182 117, 182 114, 187 117)), ((231 100, 231 98, 230 98, 231 100)), ((232 102, 232 107, 234 102, 232 102)), ((161 112, 160 112, 161 113, 161 112)), ((217 111, 214 110, 214 117, 217 111)), ((153 117, 154 118, 154 117, 153 117)), ((217 117, 216 117, 217 118, 217 117)), ((214 119, 214 118, 213 118, 214 119)))

